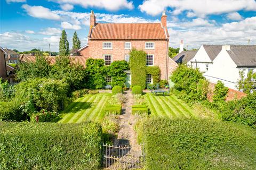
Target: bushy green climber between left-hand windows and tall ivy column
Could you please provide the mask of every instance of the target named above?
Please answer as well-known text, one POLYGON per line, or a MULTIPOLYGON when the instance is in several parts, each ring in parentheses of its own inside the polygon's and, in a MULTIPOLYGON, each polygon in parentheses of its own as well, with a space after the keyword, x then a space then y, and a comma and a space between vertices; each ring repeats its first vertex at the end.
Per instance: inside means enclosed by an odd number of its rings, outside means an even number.
POLYGON ((114 61, 106 67, 107 75, 111 76, 111 86, 124 86, 126 73, 129 69, 129 64, 126 61, 114 61))

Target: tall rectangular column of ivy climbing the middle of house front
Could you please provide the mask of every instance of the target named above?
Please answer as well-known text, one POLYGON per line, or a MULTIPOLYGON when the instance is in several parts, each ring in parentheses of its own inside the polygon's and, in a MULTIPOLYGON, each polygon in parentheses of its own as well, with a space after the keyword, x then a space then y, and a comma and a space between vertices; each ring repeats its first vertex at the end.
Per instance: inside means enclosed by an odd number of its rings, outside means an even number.
POLYGON ((146 52, 132 49, 130 52, 130 69, 132 74, 132 86, 146 88, 146 52))

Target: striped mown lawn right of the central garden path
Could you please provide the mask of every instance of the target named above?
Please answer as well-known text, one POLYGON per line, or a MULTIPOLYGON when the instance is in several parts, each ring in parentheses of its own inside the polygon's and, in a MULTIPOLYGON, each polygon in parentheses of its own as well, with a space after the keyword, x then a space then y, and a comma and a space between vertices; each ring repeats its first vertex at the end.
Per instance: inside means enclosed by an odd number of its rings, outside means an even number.
POLYGON ((145 99, 151 111, 151 116, 178 118, 178 117, 191 117, 197 118, 197 115, 192 109, 189 108, 182 100, 171 96, 156 96, 147 93, 145 99))

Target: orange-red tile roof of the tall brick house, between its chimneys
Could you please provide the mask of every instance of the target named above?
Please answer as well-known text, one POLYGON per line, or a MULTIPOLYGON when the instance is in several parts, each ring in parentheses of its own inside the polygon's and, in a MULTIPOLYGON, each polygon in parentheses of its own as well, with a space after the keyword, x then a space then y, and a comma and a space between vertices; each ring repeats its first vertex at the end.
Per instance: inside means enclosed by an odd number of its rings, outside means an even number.
POLYGON ((90 39, 167 39, 161 23, 97 23, 90 39))

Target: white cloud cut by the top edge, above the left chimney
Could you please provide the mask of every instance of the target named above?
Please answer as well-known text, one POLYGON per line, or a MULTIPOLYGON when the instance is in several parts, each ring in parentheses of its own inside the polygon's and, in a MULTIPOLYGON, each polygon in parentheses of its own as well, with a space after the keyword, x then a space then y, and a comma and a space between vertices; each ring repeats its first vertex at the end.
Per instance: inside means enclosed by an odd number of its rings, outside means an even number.
POLYGON ((132 9, 133 3, 132 1, 128 2, 127 0, 93 0, 93 1, 85 1, 85 0, 49 0, 54 1, 59 4, 73 4, 80 5, 84 8, 105 8, 108 11, 117 11, 121 8, 132 9))

